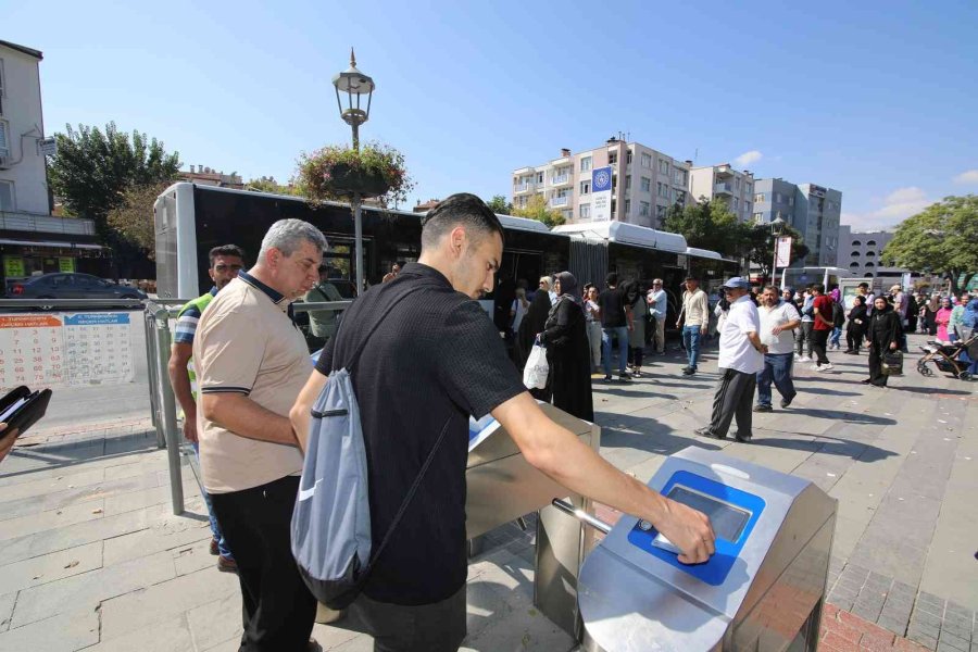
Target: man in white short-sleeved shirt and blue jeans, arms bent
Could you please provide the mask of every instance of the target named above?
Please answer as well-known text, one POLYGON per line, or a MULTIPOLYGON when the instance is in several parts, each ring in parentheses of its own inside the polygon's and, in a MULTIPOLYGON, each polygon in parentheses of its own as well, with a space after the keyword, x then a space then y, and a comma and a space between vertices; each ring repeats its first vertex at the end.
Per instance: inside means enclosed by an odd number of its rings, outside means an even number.
POLYGON ((764 369, 757 374, 757 404, 754 412, 770 412, 770 381, 781 394, 781 408, 787 408, 798 393, 791 380, 791 364, 794 361, 794 338, 791 333, 801 324, 798 309, 789 301, 778 298, 774 286, 764 288, 761 294, 761 341, 767 344, 764 354, 764 369))

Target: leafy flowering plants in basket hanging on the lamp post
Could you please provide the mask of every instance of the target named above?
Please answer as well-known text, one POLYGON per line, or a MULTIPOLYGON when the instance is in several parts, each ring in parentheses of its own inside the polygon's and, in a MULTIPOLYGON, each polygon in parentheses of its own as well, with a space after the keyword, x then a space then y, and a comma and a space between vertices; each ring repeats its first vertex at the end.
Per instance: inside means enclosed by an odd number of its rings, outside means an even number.
POLYGON ((384 206, 408 201, 408 193, 414 188, 404 166, 404 154, 388 145, 367 142, 358 150, 330 145, 311 154, 302 152, 297 174, 299 192, 313 201, 348 199, 349 193, 333 183, 334 168, 340 164, 361 174, 383 177, 388 190, 377 201, 384 206))

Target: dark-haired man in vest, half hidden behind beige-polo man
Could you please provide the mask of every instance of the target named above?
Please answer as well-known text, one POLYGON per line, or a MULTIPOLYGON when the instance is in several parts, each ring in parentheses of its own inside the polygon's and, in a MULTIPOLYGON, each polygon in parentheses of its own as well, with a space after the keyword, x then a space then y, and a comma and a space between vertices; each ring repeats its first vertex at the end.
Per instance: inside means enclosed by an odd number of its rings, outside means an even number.
MULTIPOLYGON (((170 383, 173 393, 184 411, 184 438, 198 451, 197 442, 197 373, 193 369, 193 335, 197 333, 197 323, 203 311, 217 296, 224 286, 234 279, 238 272, 244 268, 244 252, 237 244, 224 244, 215 247, 210 252, 210 267, 208 274, 214 281, 214 287, 209 292, 188 301, 177 315, 176 329, 173 334, 173 347, 170 352, 170 383)), ((208 505, 208 516, 211 519, 211 554, 217 555, 217 569, 235 573, 238 565, 224 537, 221 527, 214 517, 211 507, 211 497, 203 492, 204 502, 208 505)))

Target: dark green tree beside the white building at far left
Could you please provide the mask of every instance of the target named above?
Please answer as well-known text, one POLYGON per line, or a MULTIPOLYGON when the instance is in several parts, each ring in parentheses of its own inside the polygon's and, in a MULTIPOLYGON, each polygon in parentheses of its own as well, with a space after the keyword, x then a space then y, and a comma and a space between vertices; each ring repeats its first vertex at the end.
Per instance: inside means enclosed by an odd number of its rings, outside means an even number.
POLYGON ((173 181, 180 168, 178 152, 168 154, 155 138, 120 131, 115 123, 104 131, 65 125, 65 133, 54 137, 58 154, 48 167, 51 189, 71 215, 93 220, 110 246, 127 241, 108 223, 109 213, 126 203, 126 192, 173 181))

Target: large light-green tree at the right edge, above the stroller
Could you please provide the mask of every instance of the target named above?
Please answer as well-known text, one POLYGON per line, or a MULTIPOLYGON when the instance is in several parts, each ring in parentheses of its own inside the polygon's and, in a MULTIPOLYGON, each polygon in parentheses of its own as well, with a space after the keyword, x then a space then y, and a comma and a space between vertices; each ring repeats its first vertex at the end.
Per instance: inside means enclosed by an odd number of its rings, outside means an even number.
POLYGON ((978 196, 945 197, 901 222, 880 258, 895 267, 943 274, 956 293, 978 273, 976 242, 978 196))

